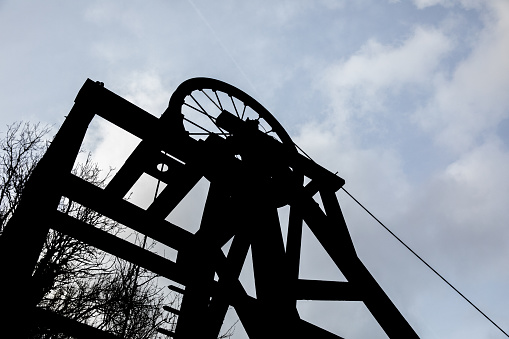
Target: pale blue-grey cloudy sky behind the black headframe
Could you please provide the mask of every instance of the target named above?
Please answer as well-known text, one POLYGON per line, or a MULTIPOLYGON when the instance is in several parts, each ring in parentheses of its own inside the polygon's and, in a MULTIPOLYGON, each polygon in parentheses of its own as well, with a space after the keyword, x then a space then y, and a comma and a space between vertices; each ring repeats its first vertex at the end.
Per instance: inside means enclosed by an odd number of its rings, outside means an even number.
MULTIPOLYGON (((87 78, 156 116, 191 77, 243 89, 509 331, 507 0, 1 0, 0 46, 2 131, 56 130, 87 78)), ((115 133, 92 133, 101 163, 108 142, 132 144, 115 133)), ((338 198, 361 260, 421 338, 505 337, 338 198)), ((306 232, 303 277, 340 279, 306 232)), ((385 337, 360 303, 299 310, 346 338, 385 337)))

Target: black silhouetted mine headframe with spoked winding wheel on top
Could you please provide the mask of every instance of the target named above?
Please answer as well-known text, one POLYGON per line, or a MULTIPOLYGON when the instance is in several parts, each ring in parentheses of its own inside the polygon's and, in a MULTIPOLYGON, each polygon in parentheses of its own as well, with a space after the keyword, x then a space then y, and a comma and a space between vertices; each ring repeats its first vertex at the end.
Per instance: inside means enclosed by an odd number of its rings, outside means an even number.
POLYGON ((32 273, 51 225, 185 286, 172 287, 183 294, 180 309, 167 308, 178 314, 175 332, 160 330, 177 339, 217 338, 230 305, 250 338, 339 338, 300 319, 296 302, 304 299, 363 301, 390 338, 418 338, 356 255, 335 195, 343 184, 301 154, 262 105, 224 82, 185 81, 158 119, 87 80, 0 238, 2 336, 45 323, 77 338, 111 337, 33 305, 32 273), (71 174, 94 115, 142 140, 104 189, 71 174), (147 209, 123 199, 143 173, 167 184, 147 209), (210 188, 193 234, 165 219, 201 178, 210 188), (174 248, 176 262, 64 215, 62 197, 174 248), (282 206, 290 210, 286 248, 282 206), (299 279, 303 222, 348 282, 299 279), (239 281, 249 248, 256 298, 239 281))

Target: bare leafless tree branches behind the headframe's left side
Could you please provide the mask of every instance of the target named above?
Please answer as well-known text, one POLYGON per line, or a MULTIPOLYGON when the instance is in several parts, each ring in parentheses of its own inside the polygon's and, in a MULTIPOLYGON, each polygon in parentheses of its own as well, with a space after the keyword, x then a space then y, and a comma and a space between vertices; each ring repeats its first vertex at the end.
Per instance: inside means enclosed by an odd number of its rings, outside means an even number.
MULTIPOLYGON (((47 149, 49 127, 15 123, 0 139, 0 236, 14 213, 28 177, 47 149)), ((74 174, 104 187, 111 169, 102 174, 90 154, 78 163, 74 174)), ((124 226, 76 202, 62 198, 59 210, 114 235, 124 226)), ((135 233, 134 242, 147 246, 147 238, 135 233)), ((178 298, 159 286, 157 276, 132 263, 113 257, 70 236, 50 230, 27 291, 38 307, 92 325, 119 338, 156 338, 164 323, 175 315, 164 305, 177 307, 178 298), (172 299, 170 299, 172 298, 172 299)), ((32 338, 68 338, 36 322, 32 338)))

